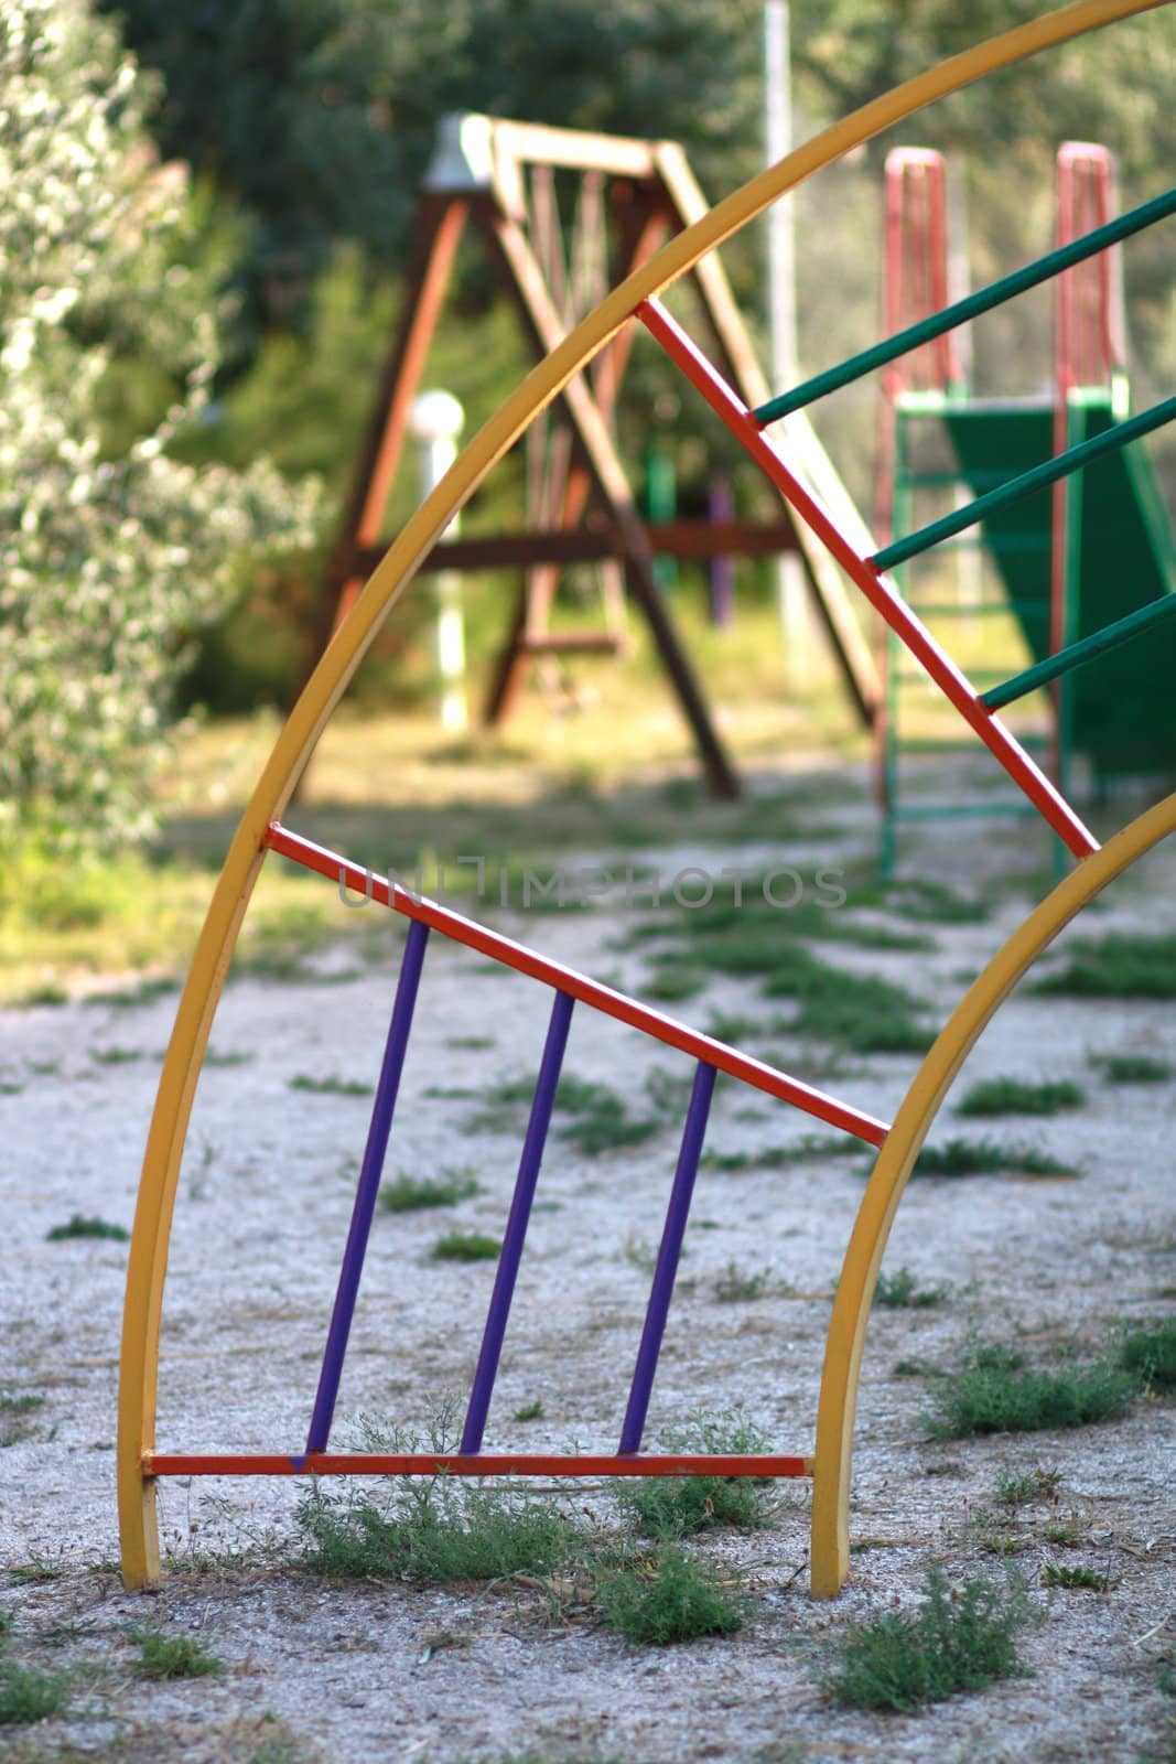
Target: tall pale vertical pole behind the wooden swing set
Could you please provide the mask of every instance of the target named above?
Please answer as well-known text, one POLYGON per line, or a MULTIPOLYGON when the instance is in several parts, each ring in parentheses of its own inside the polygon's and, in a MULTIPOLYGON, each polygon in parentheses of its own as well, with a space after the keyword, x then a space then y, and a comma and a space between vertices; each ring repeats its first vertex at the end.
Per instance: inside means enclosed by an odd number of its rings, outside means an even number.
MULTIPOLYGON (((774 166, 792 152, 792 55, 788 0, 763 0, 763 161, 774 166)), ((767 330, 772 392, 797 381, 797 263, 793 198, 779 196, 767 212, 767 330)), ((806 683, 811 630, 804 570, 795 552, 776 561, 776 593, 785 676, 790 686, 806 683)))

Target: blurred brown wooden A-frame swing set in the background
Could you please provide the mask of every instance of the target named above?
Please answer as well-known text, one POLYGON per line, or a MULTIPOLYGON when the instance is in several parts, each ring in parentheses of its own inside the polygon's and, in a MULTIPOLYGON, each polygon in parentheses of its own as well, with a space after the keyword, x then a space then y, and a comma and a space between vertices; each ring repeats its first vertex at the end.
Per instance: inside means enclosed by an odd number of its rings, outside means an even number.
MULTIPOLYGON (((631 275, 651 261, 663 240, 705 212, 702 191, 675 141, 636 141, 473 113, 443 118, 421 192, 404 310, 319 596, 312 630, 316 658, 383 556, 381 524, 407 413, 467 224, 476 229, 518 312, 527 346, 541 360, 603 298, 610 261, 621 277, 631 275), (555 173, 575 183, 575 199, 564 198, 564 208, 571 210, 566 236, 555 173)), ((691 266, 691 275, 723 370, 749 404, 762 404, 767 381, 723 265, 718 256, 707 256, 691 266)), ((878 670, 841 573, 808 529, 793 522, 788 508, 767 524, 735 517, 679 520, 656 506, 649 520, 640 519, 614 437, 631 342, 631 332, 617 332, 596 353, 585 376, 562 386, 559 400, 529 423, 525 529, 464 540, 450 534, 420 568, 522 570, 510 628, 490 670, 485 720, 492 725, 510 714, 534 660, 615 654, 622 647, 622 584, 628 584, 693 730, 711 789, 716 796, 735 796, 735 769, 661 593, 658 559, 797 552, 848 699, 866 727, 880 700, 878 670), (555 591, 568 564, 594 564, 601 573, 603 628, 598 632, 552 628, 555 591)), ((837 508, 843 524, 864 542, 866 529, 806 418, 788 427, 786 448, 793 471, 837 508)), ((656 501, 654 496, 651 503, 656 501)))

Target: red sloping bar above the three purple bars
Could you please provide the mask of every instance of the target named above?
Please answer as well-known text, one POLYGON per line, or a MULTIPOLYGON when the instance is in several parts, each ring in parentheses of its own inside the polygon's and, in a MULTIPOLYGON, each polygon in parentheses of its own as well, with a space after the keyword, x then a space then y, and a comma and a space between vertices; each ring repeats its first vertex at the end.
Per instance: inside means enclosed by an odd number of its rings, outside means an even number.
POLYGON ((714 1041, 696 1028, 688 1028, 686 1023, 679 1023, 672 1016, 663 1016, 661 1011, 652 1011, 649 1005, 638 1004, 628 993, 619 993, 612 986, 591 981, 585 974, 566 968, 562 961, 552 961, 550 956, 540 956, 534 949, 527 949, 525 944, 517 944, 510 937, 488 931, 485 924, 476 924, 450 907, 439 907, 437 901, 409 894, 398 884, 390 884, 386 877, 377 877, 374 871, 363 870, 361 864, 353 864, 351 859, 340 857, 339 852, 331 852, 324 845, 303 840, 277 820, 266 831, 266 845, 272 852, 293 857, 296 864, 303 864, 307 870, 314 870, 331 882, 340 882, 356 894, 367 894, 368 900, 379 901, 381 907, 391 907, 393 912, 402 912, 407 919, 420 919, 444 937, 451 937, 457 944, 465 944, 467 949, 476 949, 480 954, 490 956, 494 961, 501 961, 518 974, 527 974, 531 979, 543 981, 557 991, 569 993, 594 1011, 614 1016, 631 1028, 640 1028, 645 1035, 652 1035, 654 1041, 679 1048, 695 1060, 714 1065, 719 1073, 741 1078, 755 1090, 765 1090, 769 1095, 779 1097, 781 1102, 792 1102, 793 1108, 804 1110, 806 1115, 815 1115, 829 1127, 852 1132, 867 1145, 882 1145, 890 1131, 883 1120, 864 1115, 860 1110, 850 1108, 848 1102, 841 1102, 823 1090, 815 1090, 811 1085, 800 1083, 799 1078, 788 1078, 785 1073, 776 1071, 774 1065, 767 1065, 749 1053, 739 1053, 737 1048, 728 1048, 725 1041, 714 1041))

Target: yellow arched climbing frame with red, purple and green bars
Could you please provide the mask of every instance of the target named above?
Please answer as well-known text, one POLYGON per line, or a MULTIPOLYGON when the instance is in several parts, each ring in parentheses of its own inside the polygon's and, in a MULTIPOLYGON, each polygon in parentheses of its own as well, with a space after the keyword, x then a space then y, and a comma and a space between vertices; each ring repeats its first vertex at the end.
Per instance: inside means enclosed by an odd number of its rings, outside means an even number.
MULTIPOLYGON (((1148 621, 1167 617, 1169 609, 1176 610, 1176 596, 1164 596, 1164 602, 1118 619, 1105 632, 1098 633, 1097 639, 1070 644, 1047 662, 1005 683, 998 691, 982 695, 945 654, 917 614, 904 603, 885 570, 929 547, 938 538, 963 531, 980 513, 1012 503, 1019 494, 1038 489, 1042 483, 1061 482, 1068 473, 1093 459, 1109 457, 1135 436, 1158 427, 1160 422, 1176 415, 1172 409, 1176 399, 1169 399, 1153 411, 1143 413, 1143 416, 1130 422, 1121 422, 1113 430, 1067 450, 1067 453, 1044 466, 1033 467, 1026 475, 1028 483, 1026 478, 1003 483, 998 490, 986 492, 986 497, 980 497, 970 508, 936 522, 934 529, 924 529, 896 540, 882 552, 871 554, 855 549, 829 510, 799 482, 781 446, 765 432, 781 413, 797 409, 809 397, 816 395, 816 392, 827 388, 830 376, 822 376, 820 385, 813 383, 797 388, 797 392, 770 400, 760 409, 751 409, 739 392, 698 353, 658 296, 686 270, 705 259, 709 250, 762 213, 774 198, 818 171, 823 164, 829 164, 839 153, 869 139, 880 129, 903 122, 922 104, 959 90, 963 85, 994 69, 1007 67, 1023 56, 1148 9, 1150 0, 1079 0, 1079 4, 1063 11, 1021 25, 987 44, 950 58, 934 71, 899 86, 887 97, 873 101, 788 155, 779 166, 760 175, 711 213, 702 215, 684 233, 672 238, 654 258, 635 270, 621 288, 596 307, 527 376, 502 409, 471 441, 443 483, 427 497, 376 568, 372 580, 353 605, 335 642, 323 656, 310 684, 294 706, 245 810, 201 931, 164 1058, 127 1270, 118 1432, 118 1499, 127 1586, 141 1586, 159 1575, 155 1484, 160 1476, 435 1475, 441 1469, 448 1469, 451 1475, 485 1476, 510 1471, 517 1475, 541 1475, 545 1478, 696 1473, 726 1476, 809 1476, 813 1480, 813 1593, 816 1596, 832 1596, 845 1582, 848 1573, 848 1491, 853 1416, 866 1325, 889 1228, 919 1147, 963 1058, 1017 979, 1061 926, 1088 905, 1109 880, 1176 829, 1176 797, 1169 797, 1158 808, 1116 834, 1104 848, 1098 848, 1097 840, 1061 790, 1042 773, 993 711, 993 700, 1012 702, 1042 679, 1063 677, 1067 670, 1086 662, 1093 653, 1091 642, 1098 649, 1105 649, 1113 642, 1127 640, 1148 621), (416 570, 430 556, 457 510, 481 483, 495 460, 522 436, 536 413, 545 409, 569 386, 573 376, 585 369, 635 319, 644 323, 672 360, 679 363, 689 385, 705 397, 719 418, 744 443, 751 459, 762 466, 770 482, 783 492, 795 519, 820 538, 850 580, 866 594, 869 605, 878 610, 890 630, 899 635, 910 654, 926 669, 949 704, 998 764, 1003 766, 1026 799, 1044 817, 1046 824, 1058 834, 1074 857, 1079 859, 1077 870, 1028 917, 1024 926, 1007 942, 980 979, 970 988, 915 1076, 892 1125, 866 1115, 850 1102, 818 1092, 772 1065, 749 1058, 737 1048, 665 1018, 640 1000, 550 961, 471 919, 428 900, 411 896, 388 882, 372 880, 358 864, 312 845, 298 833, 284 827, 280 820, 317 736, 346 690, 367 646, 398 593, 404 591, 416 570), (993 501, 993 497, 998 497, 1000 503, 993 501), (374 900, 404 916, 409 921, 409 930, 400 981, 305 1445, 300 1443, 296 1448, 291 1448, 287 1443, 282 1450, 256 1455, 199 1450, 160 1452, 155 1445, 159 1327, 180 1157, 224 974, 249 908, 254 882, 272 854, 293 859, 331 882, 365 889, 374 900), (330 1425, 339 1388, 339 1371, 360 1284, 363 1247, 381 1178, 413 1009, 418 990, 423 984, 423 956, 430 933, 453 938, 487 960, 504 963, 529 975, 538 984, 548 986, 554 998, 547 1046, 536 1080, 531 1122, 522 1148, 515 1198, 458 1452, 451 1455, 333 1454, 330 1450, 330 1425), (688 1053, 696 1062, 645 1325, 636 1344, 636 1365, 615 1454, 543 1457, 517 1452, 483 1454, 480 1445, 487 1408, 508 1323, 527 1215, 540 1175, 543 1140, 550 1122, 568 1023, 577 1004, 601 1011, 629 1025, 638 1034, 651 1035, 688 1053), (830 1127, 857 1136, 867 1145, 880 1147, 880 1155, 852 1231, 834 1300, 813 1452, 741 1457, 654 1455, 642 1452, 642 1434, 652 1394, 658 1349, 668 1314, 718 1071, 728 1073, 753 1088, 790 1102, 827 1122, 830 1127)), ((1074 249, 1077 250, 1077 247, 1074 249)), ((904 353, 912 342, 929 340, 936 335, 936 326, 949 330, 952 323, 954 316, 950 314, 940 314, 934 319, 924 321, 919 337, 897 339, 878 346, 871 353, 873 360, 869 365, 885 363, 889 358, 904 353)), ((841 374, 841 381, 837 383, 843 383, 855 372, 864 370, 866 367, 859 360, 836 370, 832 377, 836 379, 841 374)), ((786 416, 785 420, 792 422, 793 418, 786 416)))

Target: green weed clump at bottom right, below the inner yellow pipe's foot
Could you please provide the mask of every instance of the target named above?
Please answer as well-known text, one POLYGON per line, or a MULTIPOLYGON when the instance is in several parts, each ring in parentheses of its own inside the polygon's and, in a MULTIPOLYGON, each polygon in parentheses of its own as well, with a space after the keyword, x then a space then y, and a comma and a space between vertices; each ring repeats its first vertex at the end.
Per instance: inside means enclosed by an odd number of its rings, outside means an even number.
POLYGON ((968 1581, 954 1591, 933 1568, 919 1611, 889 1611, 848 1632, 829 1688, 846 1708, 892 1711, 984 1690, 1019 1671, 1017 1630, 1026 1616, 1016 1582, 968 1581))

